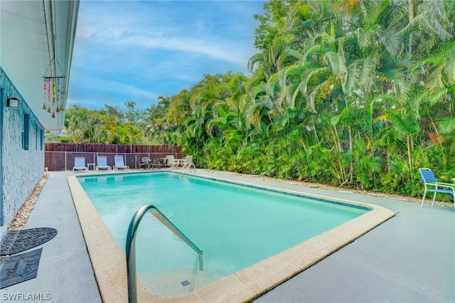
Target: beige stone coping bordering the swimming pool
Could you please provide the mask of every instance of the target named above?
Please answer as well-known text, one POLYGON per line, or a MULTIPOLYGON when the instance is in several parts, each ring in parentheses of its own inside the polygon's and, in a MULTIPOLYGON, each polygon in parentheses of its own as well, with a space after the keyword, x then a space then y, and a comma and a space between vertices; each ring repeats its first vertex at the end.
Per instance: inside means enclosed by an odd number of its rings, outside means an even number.
MULTIPOLYGON (((194 176, 200 177, 201 175, 194 174, 194 176)), ((213 179, 222 180, 221 178, 213 179)), ((246 184, 245 182, 228 181, 246 184)), ((127 266, 124 253, 107 230, 76 176, 68 176, 68 185, 102 301, 127 302, 127 266)), ((264 187, 256 184, 250 185, 264 187)), ((279 188, 274 189, 280 190, 279 188)), ((308 196, 328 198, 319 195, 308 196)), ((367 206, 372 208, 372 211, 189 294, 176 297, 160 296, 146 289, 139 280, 138 291, 141 302, 232 302, 233 297, 238 302, 252 301, 395 216, 395 213, 381 206, 336 198, 330 199, 367 206)))

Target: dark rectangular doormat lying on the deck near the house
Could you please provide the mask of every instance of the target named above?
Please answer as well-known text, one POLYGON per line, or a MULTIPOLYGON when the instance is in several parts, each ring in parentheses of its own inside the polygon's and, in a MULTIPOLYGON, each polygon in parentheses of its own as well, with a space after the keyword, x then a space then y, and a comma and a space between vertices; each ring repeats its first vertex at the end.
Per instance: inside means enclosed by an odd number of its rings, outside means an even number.
POLYGON ((0 289, 36 277, 43 248, 0 259, 0 289))

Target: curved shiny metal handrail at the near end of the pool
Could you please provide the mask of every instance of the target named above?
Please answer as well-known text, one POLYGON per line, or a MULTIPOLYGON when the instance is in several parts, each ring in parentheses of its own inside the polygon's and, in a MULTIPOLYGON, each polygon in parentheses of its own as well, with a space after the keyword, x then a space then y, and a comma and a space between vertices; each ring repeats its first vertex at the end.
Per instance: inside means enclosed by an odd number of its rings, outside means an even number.
POLYGON ((193 250, 199 254, 199 270, 203 270, 203 251, 200 250, 186 235, 184 235, 181 230, 177 228, 176 225, 164 216, 158 208, 153 205, 147 204, 139 208, 139 210, 134 214, 131 222, 129 223, 128 234, 127 234, 127 275, 128 275, 128 301, 138 302, 137 301, 137 281, 136 281, 136 232, 141 222, 142 217, 146 213, 150 212, 158 220, 161 221, 167 228, 169 228, 173 233, 178 235, 179 238, 188 244, 193 250))

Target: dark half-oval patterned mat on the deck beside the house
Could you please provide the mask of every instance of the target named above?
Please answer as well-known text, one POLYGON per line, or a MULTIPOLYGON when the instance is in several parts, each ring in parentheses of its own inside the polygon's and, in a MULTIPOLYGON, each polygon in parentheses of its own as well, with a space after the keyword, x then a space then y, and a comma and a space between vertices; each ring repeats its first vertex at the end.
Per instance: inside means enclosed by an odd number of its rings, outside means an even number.
POLYGON ((0 255, 14 255, 48 242, 57 235, 54 228, 30 228, 6 233, 0 243, 0 255))

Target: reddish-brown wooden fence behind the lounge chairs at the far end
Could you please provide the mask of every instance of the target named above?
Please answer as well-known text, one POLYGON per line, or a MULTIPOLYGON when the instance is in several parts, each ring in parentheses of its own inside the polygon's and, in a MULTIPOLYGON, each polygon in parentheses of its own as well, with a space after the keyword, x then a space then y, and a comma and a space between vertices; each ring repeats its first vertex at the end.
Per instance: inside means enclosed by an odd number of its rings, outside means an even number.
POLYGON ((107 156, 107 165, 114 166, 114 156, 124 156, 125 165, 131 169, 139 168, 142 157, 150 159, 164 158, 173 155, 176 159, 185 156, 182 147, 173 145, 117 145, 117 144, 64 144, 46 143, 44 166, 49 171, 71 170, 74 158, 82 156, 85 164, 97 163, 97 156, 107 156))

